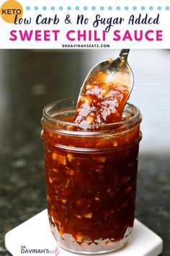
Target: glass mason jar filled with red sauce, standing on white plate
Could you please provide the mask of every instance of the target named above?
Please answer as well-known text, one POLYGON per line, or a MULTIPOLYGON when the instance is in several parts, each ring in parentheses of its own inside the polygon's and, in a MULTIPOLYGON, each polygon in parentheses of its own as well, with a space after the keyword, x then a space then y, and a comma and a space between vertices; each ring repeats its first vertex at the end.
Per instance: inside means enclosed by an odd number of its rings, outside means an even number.
POLYGON ((71 122, 76 102, 56 101, 43 109, 50 227, 63 249, 112 252, 133 229, 142 117, 127 103, 123 121, 84 130, 71 122))

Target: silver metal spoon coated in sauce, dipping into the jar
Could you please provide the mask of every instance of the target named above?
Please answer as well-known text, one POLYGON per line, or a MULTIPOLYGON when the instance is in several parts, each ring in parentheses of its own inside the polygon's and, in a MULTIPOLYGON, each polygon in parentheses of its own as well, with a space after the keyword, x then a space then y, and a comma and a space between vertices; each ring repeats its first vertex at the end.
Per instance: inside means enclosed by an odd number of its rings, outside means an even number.
POLYGON ((130 49, 122 49, 117 59, 107 59, 99 62, 90 70, 79 93, 75 116, 76 122, 99 124, 119 121, 125 103, 128 101, 130 92, 133 89, 133 72, 127 61, 129 51, 130 49), (122 95, 120 89, 122 89, 122 95), (125 93, 123 94, 124 90, 125 93), (120 95, 115 95, 114 97, 116 91, 120 91, 120 95), (120 101, 122 96, 124 98, 120 101), (95 97, 99 101, 99 107, 96 104, 95 97), (117 108, 119 103, 120 106, 117 108), (106 111, 108 112, 107 114, 106 111), (116 116, 116 112, 118 113, 117 118, 113 118, 114 115, 116 116), (111 118, 108 118, 109 115, 111 115, 111 118), (100 119, 99 116, 101 117, 100 119))

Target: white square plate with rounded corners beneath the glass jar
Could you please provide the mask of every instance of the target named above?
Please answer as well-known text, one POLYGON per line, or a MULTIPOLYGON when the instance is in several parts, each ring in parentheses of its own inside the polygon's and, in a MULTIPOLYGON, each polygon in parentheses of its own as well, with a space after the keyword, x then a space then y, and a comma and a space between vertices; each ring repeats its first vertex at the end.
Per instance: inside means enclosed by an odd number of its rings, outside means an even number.
MULTIPOLYGON (((73 256, 61 247, 57 247, 53 234, 50 232, 47 210, 12 229, 5 236, 6 249, 13 256, 49 255, 73 256), (59 253, 57 253, 58 248, 59 253), (34 249, 37 252, 34 252, 34 249), (29 251, 30 250, 30 251, 29 251)), ((143 223, 135 219, 133 234, 126 247, 104 256, 158 256, 162 252, 161 237, 153 233, 143 223)), ((79 254, 75 254, 79 255, 79 254)))

